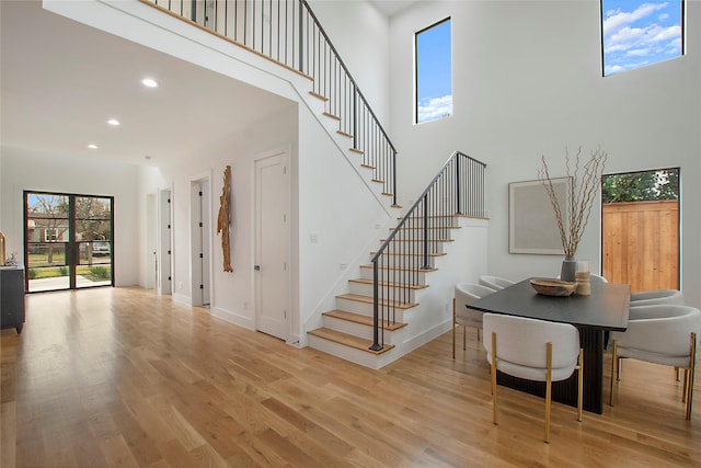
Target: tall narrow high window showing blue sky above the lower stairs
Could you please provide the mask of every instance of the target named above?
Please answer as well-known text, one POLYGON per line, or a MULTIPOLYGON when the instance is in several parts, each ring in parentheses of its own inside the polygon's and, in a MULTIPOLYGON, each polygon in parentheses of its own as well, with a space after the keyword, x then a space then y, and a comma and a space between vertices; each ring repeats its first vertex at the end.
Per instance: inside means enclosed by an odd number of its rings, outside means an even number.
POLYGON ((415 122, 422 124, 452 114, 450 19, 415 35, 415 122))

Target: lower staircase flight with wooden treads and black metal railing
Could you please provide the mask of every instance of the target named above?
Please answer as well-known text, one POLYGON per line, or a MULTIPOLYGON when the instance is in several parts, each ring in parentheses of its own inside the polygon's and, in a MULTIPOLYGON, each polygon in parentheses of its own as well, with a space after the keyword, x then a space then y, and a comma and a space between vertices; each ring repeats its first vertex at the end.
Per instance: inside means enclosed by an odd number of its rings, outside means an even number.
POLYGON ((451 156, 380 248, 368 252, 370 263, 336 296, 336 308, 322 313, 322 327, 307 332, 311 347, 379 368, 450 329, 445 286, 464 275, 466 247, 485 242, 464 239, 486 227, 482 192, 472 187, 483 170, 463 153, 451 156), (432 292, 433 284, 439 290, 432 292))

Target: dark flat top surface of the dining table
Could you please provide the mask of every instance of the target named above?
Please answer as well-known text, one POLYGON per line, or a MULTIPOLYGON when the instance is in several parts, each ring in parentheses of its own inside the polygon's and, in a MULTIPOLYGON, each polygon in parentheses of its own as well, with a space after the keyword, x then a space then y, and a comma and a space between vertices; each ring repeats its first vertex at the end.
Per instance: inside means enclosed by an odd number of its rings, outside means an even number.
POLYGON ((536 293, 530 278, 470 304, 484 312, 572 323, 577 328, 625 331, 631 299, 627 284, 591 283, 591 295, 566 297, 536 293))

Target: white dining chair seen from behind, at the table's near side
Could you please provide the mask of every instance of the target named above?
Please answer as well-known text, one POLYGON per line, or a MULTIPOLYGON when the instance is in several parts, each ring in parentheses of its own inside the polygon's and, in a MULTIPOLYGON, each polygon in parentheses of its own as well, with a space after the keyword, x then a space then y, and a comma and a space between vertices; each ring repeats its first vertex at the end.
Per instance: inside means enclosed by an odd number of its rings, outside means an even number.
POLYGON ((552 383, 578 370, 577 421, 582 421, 584 351, 579 332, 570 323, 497 313, 483 317, 486 359, 492 367, 492 422, 497 424, 496 372, 545 383, 545 442, 550 442, 552 383))

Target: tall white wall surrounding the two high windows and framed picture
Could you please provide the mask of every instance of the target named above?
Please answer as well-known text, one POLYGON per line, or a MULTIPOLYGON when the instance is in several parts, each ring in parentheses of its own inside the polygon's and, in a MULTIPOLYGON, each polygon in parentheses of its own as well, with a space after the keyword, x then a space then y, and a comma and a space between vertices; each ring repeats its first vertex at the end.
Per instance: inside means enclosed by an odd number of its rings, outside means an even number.
MULTIPOLYGON (((425 1, 391 26, 391 129, 400 153, 400 197, 420 193, 456 149, 486 162, 489 273, 554 275, 559 255, 508 253, 508 183, 537 179, 541 155, 564 175, 564 148, 600 146, 606 172, 681 167, 682 289, 701 306, 701 2, 688 4, 688 54, 601 77, 599 2, 425 1), (416 31, 452 18, 453 113, 413 125, 416 31)), ((596 202, 577 258, 600 263, 596 202)))

